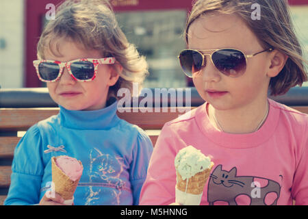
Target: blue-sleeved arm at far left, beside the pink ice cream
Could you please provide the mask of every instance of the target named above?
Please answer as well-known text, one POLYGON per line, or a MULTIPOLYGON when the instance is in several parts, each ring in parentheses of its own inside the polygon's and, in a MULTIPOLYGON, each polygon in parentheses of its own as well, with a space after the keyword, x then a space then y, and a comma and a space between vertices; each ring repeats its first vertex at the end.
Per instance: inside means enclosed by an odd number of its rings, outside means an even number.
POLYGON ((14 151, 10 190, 4 205, 38 204, 44 172, 40 155, 41 144, 36 125, 18 142, 14 151))

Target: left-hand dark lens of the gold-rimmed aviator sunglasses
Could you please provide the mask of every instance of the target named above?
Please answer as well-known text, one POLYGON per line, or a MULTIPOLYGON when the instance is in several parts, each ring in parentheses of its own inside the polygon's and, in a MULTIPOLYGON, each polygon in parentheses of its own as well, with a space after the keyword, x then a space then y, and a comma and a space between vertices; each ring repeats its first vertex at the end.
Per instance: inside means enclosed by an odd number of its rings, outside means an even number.
POLYGON ((192 77, 193 73, 196 73, 202 68, 203 56, 197 51, 182 51, 179 55, 179 60, 184 73, 188 77, 192 77))

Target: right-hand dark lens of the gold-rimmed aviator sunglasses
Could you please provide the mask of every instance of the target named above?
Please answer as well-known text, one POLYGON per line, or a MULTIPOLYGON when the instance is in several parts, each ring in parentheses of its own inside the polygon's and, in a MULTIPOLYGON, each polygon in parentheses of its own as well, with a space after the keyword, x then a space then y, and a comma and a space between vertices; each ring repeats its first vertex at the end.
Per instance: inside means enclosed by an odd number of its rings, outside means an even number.
POLYGON ((218 50, 211 56, 216 68, 230 77, 239 77, 246 71, 246 58, 241 51, 234 49, 218 50))

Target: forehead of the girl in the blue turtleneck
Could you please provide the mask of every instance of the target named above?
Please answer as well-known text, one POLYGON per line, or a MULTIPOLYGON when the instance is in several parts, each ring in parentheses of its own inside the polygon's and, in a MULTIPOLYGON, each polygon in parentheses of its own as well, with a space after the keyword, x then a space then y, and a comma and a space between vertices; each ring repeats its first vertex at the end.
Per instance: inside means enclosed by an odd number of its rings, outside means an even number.
POLYGON ((51 41, 49 49, 44 51, 46 60, 68 62, 81 58, 100 58, 99 51, 85 49, 81 44, 70 39, 58 38, 51 41))

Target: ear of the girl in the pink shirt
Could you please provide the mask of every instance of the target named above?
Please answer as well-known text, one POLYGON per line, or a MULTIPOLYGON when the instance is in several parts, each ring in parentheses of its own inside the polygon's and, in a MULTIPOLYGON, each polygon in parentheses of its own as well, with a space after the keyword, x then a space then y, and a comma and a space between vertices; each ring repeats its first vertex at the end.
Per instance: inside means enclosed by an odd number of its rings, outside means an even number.
POLYGON ((287 62, 288 58, 289 57, 284 53, 274 49, 269 55, 268 77, 276 77, 285 66, 285 62, 287 62))

